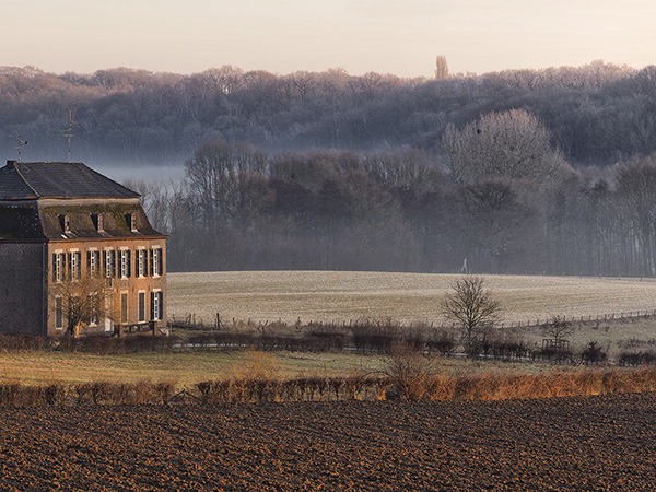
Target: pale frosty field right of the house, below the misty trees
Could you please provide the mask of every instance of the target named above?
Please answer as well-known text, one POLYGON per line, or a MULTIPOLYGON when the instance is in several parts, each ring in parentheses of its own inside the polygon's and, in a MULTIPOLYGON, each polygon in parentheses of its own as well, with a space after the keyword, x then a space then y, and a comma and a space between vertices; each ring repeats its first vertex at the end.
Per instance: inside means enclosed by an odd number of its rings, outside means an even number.
MULTIPOLYGON (((171 273, 168 316, 213 323, 443 321, 440 303, 460 276, 431 273, 254 271, 171 273)), ((656 281, 577 277, 487 276, 506 325, 656 307, 656 281)))

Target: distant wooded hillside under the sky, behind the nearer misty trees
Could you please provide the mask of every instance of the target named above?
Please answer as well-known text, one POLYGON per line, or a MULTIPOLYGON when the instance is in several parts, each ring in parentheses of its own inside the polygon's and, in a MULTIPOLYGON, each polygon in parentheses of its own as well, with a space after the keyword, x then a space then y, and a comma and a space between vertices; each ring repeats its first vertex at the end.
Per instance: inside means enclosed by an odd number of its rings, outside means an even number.
POLYGON ((341 69, 284 75, 232 66, 190 75, 117 68, 54 74, 0 67, 0 148, 26 160, 179 163, 222 137, 267 152, 442 148, 448 125, 492 112, 539 118, 572 165, 611 165, 656 151, 656 66, 594 61, 436 79, 341 69))

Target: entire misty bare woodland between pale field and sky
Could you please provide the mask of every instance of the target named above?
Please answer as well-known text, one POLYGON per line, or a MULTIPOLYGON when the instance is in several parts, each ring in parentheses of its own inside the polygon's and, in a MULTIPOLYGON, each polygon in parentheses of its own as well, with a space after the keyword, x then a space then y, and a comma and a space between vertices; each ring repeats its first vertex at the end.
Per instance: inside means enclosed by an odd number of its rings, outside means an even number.
POLYGON ((172 270, 656 273, 655 66, 0 68, 8 159, 66 159, 69 115, 72 160, 185 167, 128 184, 172 270))

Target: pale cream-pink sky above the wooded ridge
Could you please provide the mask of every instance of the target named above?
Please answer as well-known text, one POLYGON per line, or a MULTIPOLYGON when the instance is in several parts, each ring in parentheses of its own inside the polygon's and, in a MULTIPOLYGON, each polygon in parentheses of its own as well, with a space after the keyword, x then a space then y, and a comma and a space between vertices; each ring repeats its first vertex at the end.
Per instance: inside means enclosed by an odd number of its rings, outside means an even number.
POLYGON ((0 66, 432 77, 656 63, 655 0, 0 0, 0 66))

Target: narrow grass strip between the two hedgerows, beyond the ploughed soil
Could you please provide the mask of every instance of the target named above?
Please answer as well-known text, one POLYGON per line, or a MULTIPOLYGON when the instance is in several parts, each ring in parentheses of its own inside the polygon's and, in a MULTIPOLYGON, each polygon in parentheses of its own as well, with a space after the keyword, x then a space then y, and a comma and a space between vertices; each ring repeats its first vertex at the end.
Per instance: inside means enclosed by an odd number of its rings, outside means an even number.
MULTIPOLYGON (((347 377, 377 373, 386 359, 353 353, 134 353, 93 355, 65 352, 0 353, 0 384, 26 385, 80 384, 106 380, 174 380, 179 386, 194 386, 201 380, 224 380, 245 374, 290 379, 304 376, 347 377)), ((540 364, 472 362, 440 359, 441 373, 447 375, 505 373, 507 371, 539 374, 553 371, 540 364)))

